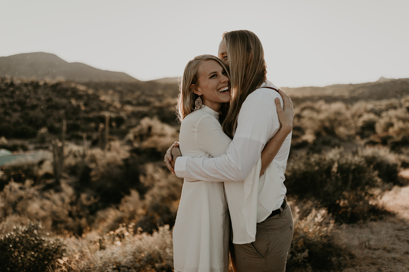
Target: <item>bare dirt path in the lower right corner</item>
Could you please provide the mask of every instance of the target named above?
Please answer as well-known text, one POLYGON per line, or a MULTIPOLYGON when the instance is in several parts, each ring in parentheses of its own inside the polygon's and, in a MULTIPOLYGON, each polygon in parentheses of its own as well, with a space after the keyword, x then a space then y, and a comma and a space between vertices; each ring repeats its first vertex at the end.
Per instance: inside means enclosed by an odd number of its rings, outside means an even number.
POLYGON ((409 271, 409 186, 394 187, 379 202, 396 216, 333 230, 338 242, 355 254, 353 267, 342 272, 409 271))

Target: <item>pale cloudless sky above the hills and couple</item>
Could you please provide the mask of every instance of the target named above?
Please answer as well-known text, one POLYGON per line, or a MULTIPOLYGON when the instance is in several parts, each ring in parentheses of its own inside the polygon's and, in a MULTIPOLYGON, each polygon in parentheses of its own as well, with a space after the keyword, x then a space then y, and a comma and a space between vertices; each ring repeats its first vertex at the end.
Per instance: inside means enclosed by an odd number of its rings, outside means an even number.
POLYGON ((0 0, 0 56, 54 53, 139 80, 217 55, 224 31, 263 43, 278 86, 409 77, 408 0, 0 0))

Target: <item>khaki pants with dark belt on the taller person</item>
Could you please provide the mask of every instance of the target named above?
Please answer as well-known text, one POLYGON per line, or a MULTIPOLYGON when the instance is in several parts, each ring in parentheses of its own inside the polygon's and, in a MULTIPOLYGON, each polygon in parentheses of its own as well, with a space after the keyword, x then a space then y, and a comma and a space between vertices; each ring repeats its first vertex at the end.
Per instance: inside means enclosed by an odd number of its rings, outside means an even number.
POLYGON ((257 223, 256 241, 234 244, 238 272, 285 271, 293 232, 294 223, 287 204, 282 215, 257 223))

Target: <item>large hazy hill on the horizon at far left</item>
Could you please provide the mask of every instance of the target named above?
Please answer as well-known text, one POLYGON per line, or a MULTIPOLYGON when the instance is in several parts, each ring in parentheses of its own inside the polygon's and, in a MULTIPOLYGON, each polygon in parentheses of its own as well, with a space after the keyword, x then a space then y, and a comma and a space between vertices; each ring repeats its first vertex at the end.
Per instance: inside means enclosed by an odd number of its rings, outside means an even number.
POLYGON ((66 62, 57 55, 43 52, 0 57, 0 77, 77 82, 138 82, 126 73, 94 68, 80 62, 66 62))

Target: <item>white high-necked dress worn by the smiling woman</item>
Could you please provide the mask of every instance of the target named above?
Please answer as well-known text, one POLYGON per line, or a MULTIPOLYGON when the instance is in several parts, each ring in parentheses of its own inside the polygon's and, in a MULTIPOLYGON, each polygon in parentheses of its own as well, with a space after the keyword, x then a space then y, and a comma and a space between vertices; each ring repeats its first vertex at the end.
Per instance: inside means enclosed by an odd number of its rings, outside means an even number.
MULTIPOLYGON (((231 139, 219 113, 207 106, 187 115, 180 126, 182 156, 218 157, 231 139)), ((223 182, 185 179, 173 228, 173 261, 178 272, 227 272, 229 215, 223 182)))

